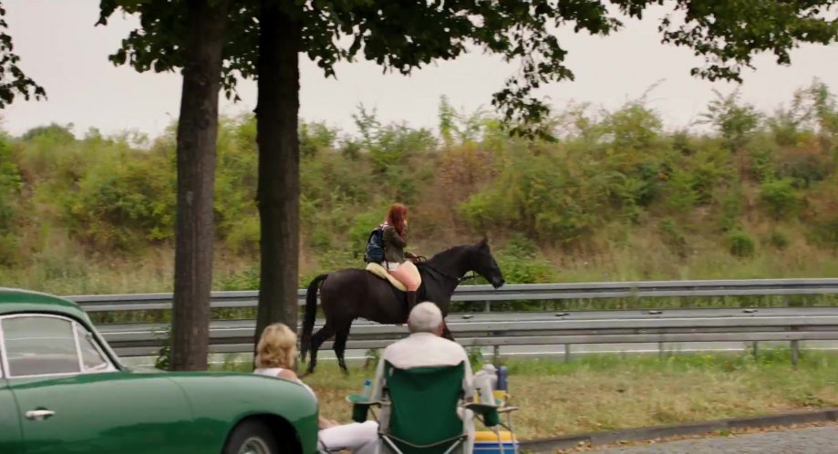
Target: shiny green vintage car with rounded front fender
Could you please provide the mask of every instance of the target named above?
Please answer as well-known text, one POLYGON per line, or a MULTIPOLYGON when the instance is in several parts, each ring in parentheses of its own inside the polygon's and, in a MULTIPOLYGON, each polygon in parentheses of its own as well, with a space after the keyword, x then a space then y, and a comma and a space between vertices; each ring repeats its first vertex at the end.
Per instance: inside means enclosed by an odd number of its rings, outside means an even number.
POLYGON ((282 378, 138 372, 77 304, 0 288, 0 453, 317 452, 317 401, 282 378))

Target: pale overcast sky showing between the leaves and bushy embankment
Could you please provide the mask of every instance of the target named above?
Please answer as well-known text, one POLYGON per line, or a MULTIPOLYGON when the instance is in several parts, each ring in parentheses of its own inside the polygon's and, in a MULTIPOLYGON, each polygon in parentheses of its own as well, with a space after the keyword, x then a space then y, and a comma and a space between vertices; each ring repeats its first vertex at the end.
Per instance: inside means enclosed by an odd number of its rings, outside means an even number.
MULTIPOLYGON (((140 131, 156 136, 176 119, 180 105, 178 73, 137 73, 115 67, 108 56, 138 23, 136 17, 114 15, 108 26, 95 26, 98 0, 5 0, 6 21, 14 38, 20 67, 47 90, 46 101, 16 98, 0 111, 0 129, 19 135, 27 129, 72 123, 83 136, 89 128, 102 133, 140 131)), ((560 30, 560 42, 569 54, 566 63, 575 74, 543 88, 542 95, 560 110, 569 102, 619 108, 641 97, 648 88, 648 106, 657 110, 668 129, 689 126, 705 111, 715 88, 727 94, 737 86, 689 75, 700 66, 686 47, 660 44, 657 19, 664 7, 650 10, 644 20, 626 20, 611 36, 574 34, 560 30)), ((326 78, 316 65, 301 59, 300 116, 355 133, 352 114, 363 103, 376 108, 383 122, 435 128, 440 96, 464 112, 491 109, 491 94, 516 66, 500 57, 475 52, 454 61, 424 67, 409 77, 382 74, 364 61, 341 63, 337 77, 326 78)), ((838 45, 806 45, 791 53, 791 66, 779 66, 771 55, 755 59, 740 87, 741 99, 765 112, 789 103, 793 91, 819 78, 838 91, 838 45)), ((221 112, 236 115, 252 111, 256 89, 240 82, 242 101, 222 100, 221 112)), ((223 97, 222 97, 223 99, 223 97)))

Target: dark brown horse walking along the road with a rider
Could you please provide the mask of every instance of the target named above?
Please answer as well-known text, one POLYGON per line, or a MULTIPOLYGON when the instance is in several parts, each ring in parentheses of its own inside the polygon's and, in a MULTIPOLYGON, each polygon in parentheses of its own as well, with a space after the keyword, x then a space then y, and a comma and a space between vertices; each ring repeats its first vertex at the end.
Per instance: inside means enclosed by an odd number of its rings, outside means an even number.
MULTIPOLYGON (((468 272, 480 274, 498 288, 505 283, 498 263, 491 256, 489 243, 484 238, 477 244, 455 246, 437 253, 427 263, 417 263, 422 284, 417 294, 417 302, 432 301, 440 306, 443 317, 448 314, 451 294, 460 284, 461 278, 468 272)), ((305 294, 305 318, 303 335, 300 340, 300 354, 305 362, 305 354, 311 350, 311 362, 306 374, 315 371, 317 350, 326 339, 335 335, 334 350, 337 362, 345 374, 348 373, 344 362, 344 351, 349 337, 349 328, 356 318, 366 318, 379 324, 402 324, 408 319, 407 304, 404 294, 396 290, 388 281, 361 269, 344 269, 335 273, 320 274, 305 294), (317 312, 317 286, 320 283, 320 307, 326 315, 326 324, 312 335, 317 312), (400 297, 397 297, 397 292, 400 297)), ((443 335, 453 340, 448 326, 443 335)))

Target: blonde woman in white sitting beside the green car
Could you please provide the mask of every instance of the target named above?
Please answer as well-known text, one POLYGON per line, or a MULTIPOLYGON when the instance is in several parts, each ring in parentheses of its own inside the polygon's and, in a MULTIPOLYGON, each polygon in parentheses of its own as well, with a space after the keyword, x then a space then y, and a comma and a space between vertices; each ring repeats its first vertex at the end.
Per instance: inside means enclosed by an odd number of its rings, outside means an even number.
MULTIPOLYGON (((256 346, 254 374, 280 377, 303 385, 317 398, 315 391, 296 376, 292 366, 296 357, 296 334, 288 326, 275 323, 264 328, 256 346)), ((356 454, 376 454, 378 451, 378 423, 366 421, 339 424, 320 417, 318 439, 326 449, 350 449, 356 454)))

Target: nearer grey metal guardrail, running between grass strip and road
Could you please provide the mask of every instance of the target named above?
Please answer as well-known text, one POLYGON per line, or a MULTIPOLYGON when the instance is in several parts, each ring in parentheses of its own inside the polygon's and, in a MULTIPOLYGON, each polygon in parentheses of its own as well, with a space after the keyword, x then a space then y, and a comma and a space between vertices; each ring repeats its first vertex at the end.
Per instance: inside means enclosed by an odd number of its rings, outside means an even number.
MULTIPOLYGON (((580 344, 657 344, 690 342, 788 341, 791 360, 797 362, 799 341, 838 340, 838 307, 777 307, 760 309, 679 309, 673 311, 604 311, 494 313, 450 315, 448 325, 462 346, 491 346, 495 356, 502 346, 564 346, 569 360, 572 346, 580 344), (655 314, 649 314, 653 312, 655 314), (658 314, 659 313, 659 314, 658 314)), ((318 320, 316 327, 322 325, 318 320)), ((99 325, 98 329, 120 356, 152 356, 163 346, 165 325, 99 325)), ((213 353, 253 351, 253 320, 213 321, 213 353)), ((404 326, 357 321, 347 349, 388 346, 407 335, 404 326)), ((326 342, 321 349, 331 348, 326 342)))

